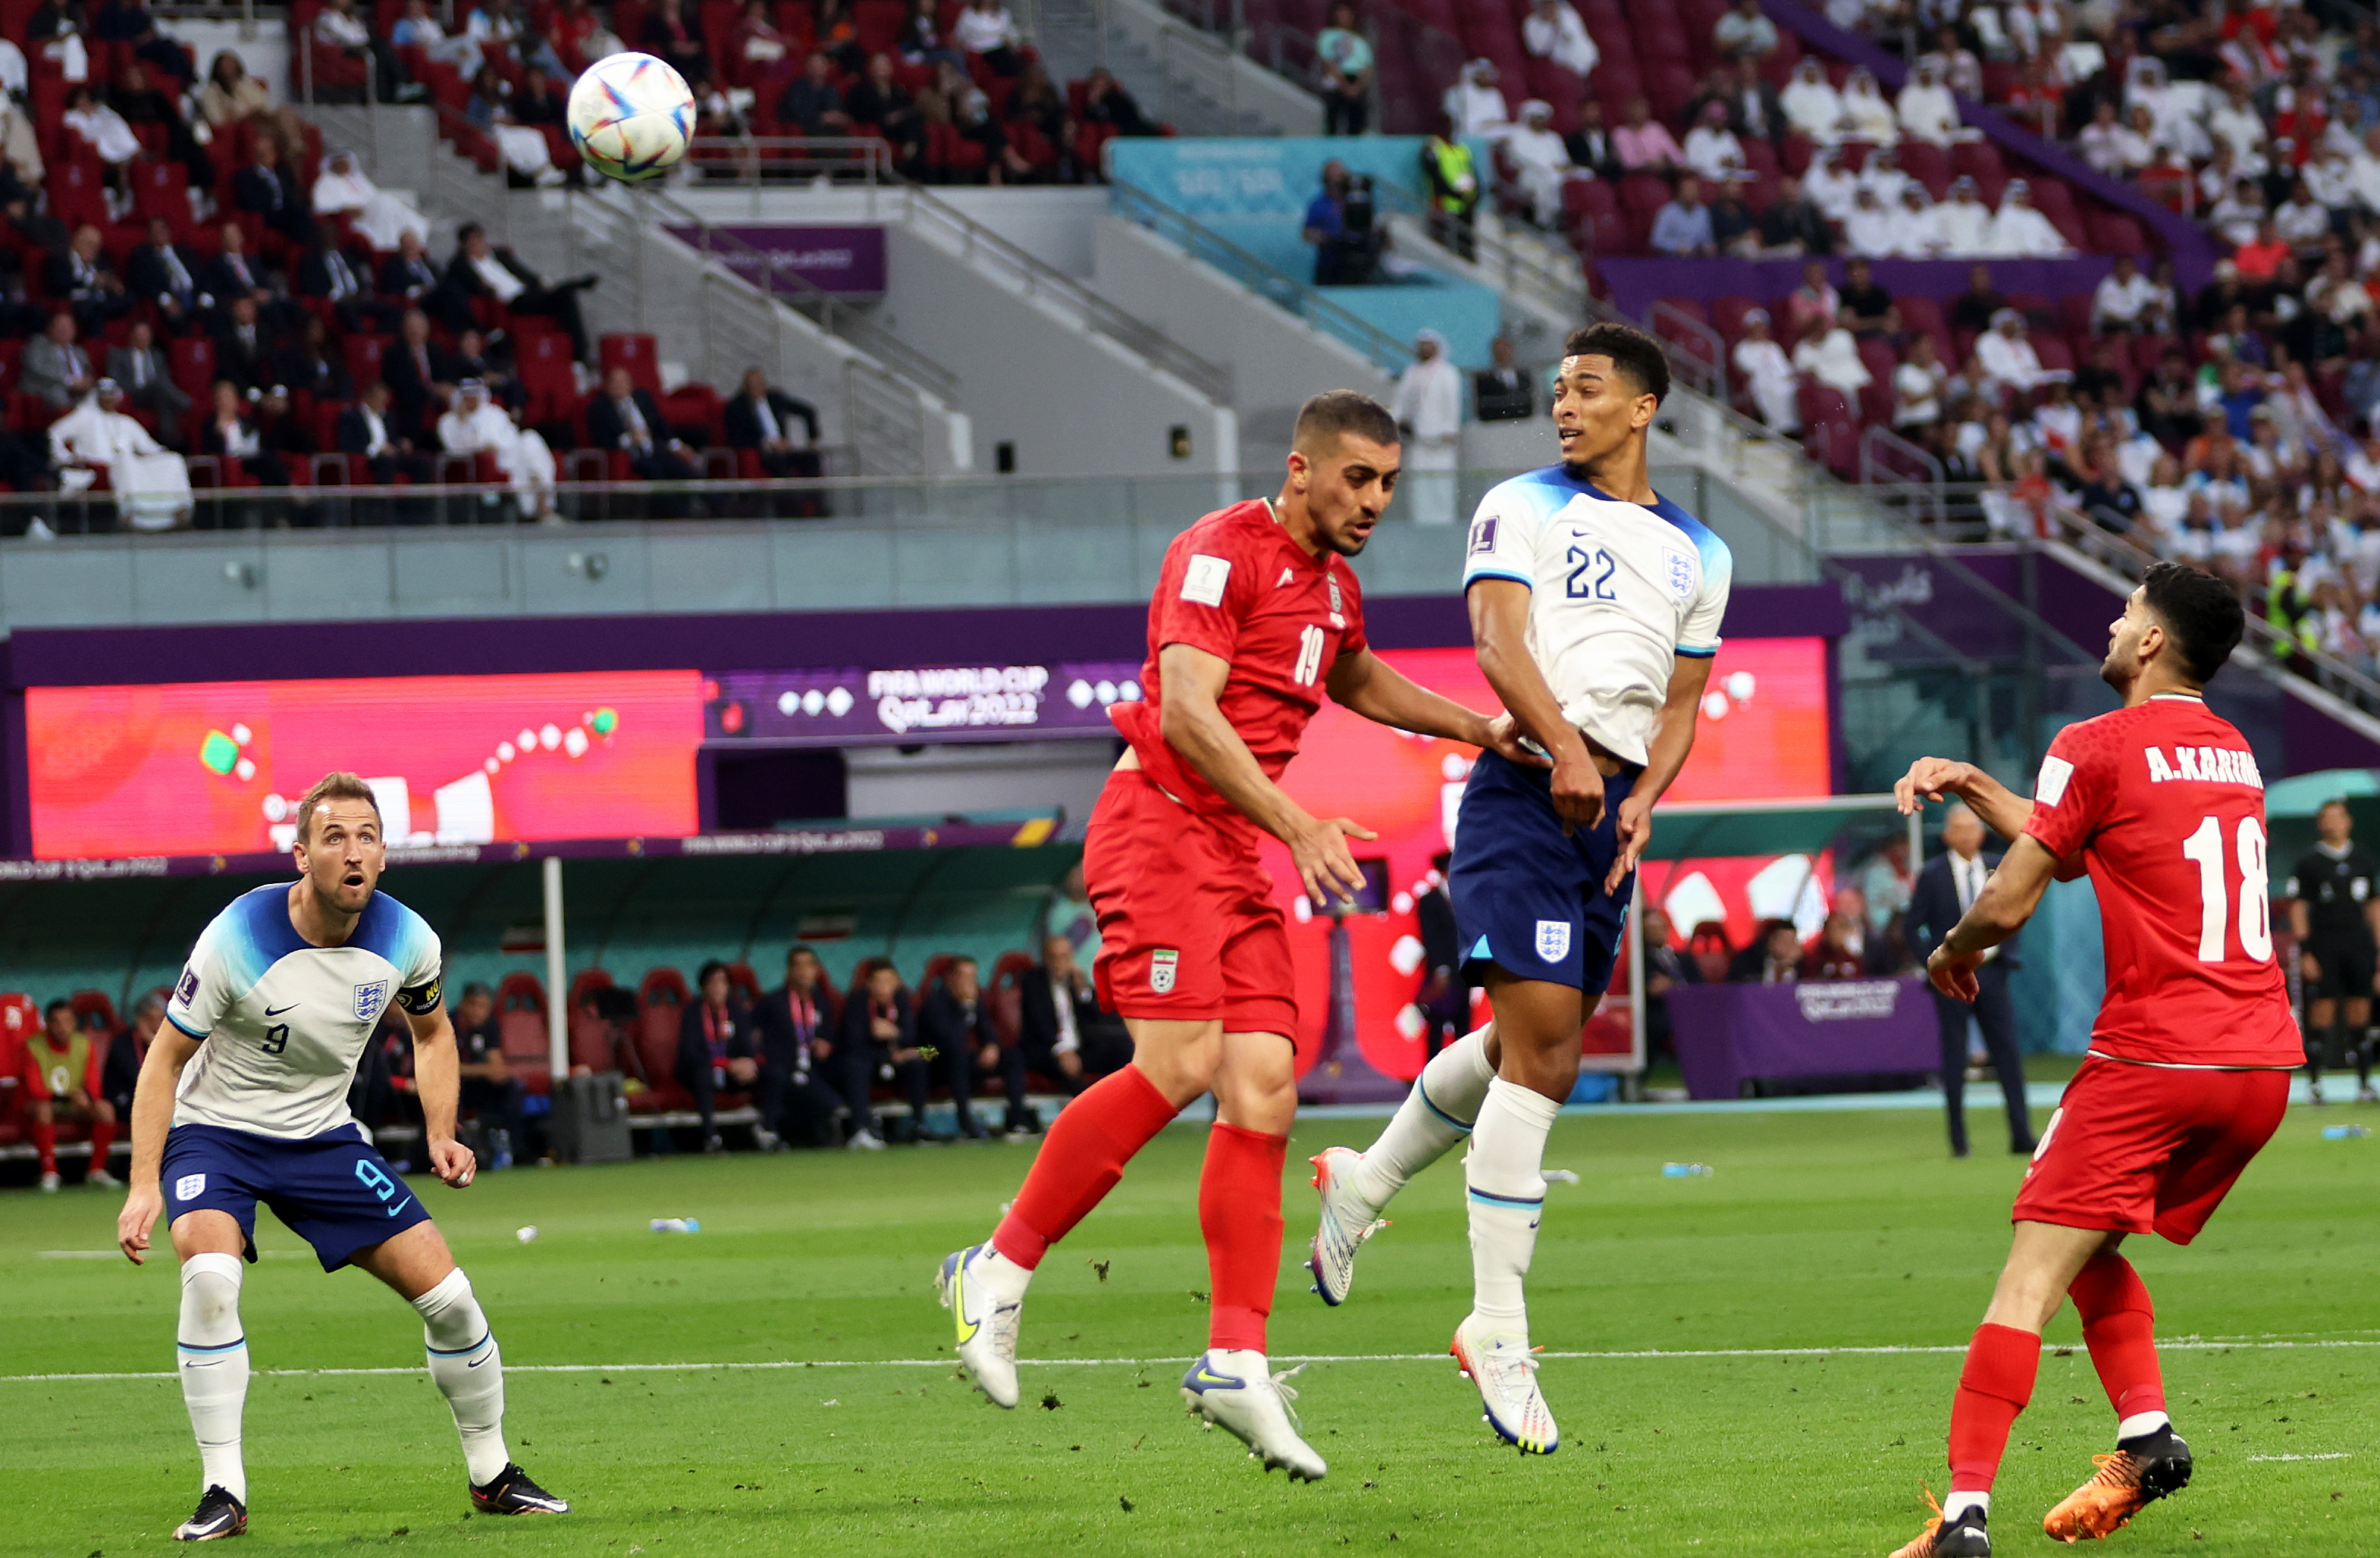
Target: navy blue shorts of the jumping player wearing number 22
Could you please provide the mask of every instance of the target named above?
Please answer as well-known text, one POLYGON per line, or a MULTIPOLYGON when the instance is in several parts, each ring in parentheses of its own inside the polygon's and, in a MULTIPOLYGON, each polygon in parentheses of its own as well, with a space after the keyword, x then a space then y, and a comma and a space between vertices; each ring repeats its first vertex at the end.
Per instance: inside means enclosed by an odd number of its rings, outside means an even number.
POLYGON ((1592 997, 1611 987, 1635 873, 1616 894, 1604 892, 1604 875, 1618 859, 1618 809, 1637 773, 1623 766, 1609 775, 1602 821, 1564 835, 1552 771, 1480 752, 1454 816, 1447 873, 1466 973, 1495 963, 1516 980, 1573 985, 1592 997))

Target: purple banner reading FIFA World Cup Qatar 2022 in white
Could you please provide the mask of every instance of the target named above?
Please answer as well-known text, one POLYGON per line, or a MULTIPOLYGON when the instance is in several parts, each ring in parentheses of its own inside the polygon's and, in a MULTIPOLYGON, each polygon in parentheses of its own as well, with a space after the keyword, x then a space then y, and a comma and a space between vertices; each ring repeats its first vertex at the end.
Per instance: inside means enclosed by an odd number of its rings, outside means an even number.
POLYGON ((1140 661, 721 671, 702 685, 702 735, 776 747, 1004 742, 1109 735, 1109 704, 1140 702, 1140 661))

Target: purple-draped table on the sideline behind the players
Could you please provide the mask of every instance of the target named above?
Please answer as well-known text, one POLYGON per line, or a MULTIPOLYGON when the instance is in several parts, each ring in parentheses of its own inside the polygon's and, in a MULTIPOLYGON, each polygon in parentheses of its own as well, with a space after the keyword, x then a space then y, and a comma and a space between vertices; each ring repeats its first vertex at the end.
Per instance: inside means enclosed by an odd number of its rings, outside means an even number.
POLYGON ((1754 1078, 1942 1066, 1925 980, 1673 985, 1666 999, 1678 1070, 1697 1099, 1740 1099, 1754 1078))

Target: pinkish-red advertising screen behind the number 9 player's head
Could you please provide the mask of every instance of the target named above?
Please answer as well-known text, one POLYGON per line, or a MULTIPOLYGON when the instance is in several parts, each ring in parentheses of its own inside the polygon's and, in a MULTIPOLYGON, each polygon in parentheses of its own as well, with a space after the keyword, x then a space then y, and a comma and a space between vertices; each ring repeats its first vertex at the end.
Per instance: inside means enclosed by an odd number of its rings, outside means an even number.
POLYGON ((697 828, 695 671, 31 687, 33 854, 286 849, 333 768, 393 847, 697 828))

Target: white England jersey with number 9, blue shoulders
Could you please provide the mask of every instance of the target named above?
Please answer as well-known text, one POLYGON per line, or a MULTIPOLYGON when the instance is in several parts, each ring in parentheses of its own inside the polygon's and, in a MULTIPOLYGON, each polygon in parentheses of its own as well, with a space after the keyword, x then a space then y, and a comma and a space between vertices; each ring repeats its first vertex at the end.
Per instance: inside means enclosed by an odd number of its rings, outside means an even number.
POLYGON ((345 1125, 347 1085, 388 1004, 438 1009, 438 932, 374 892, 343 947, 290 925, 290 885, 248 892, 200 932, 164 1016, 205 1039, 181 1073, 174 1125, 319 1137, 345 1125))

